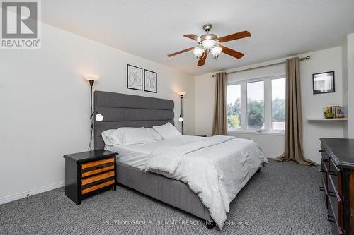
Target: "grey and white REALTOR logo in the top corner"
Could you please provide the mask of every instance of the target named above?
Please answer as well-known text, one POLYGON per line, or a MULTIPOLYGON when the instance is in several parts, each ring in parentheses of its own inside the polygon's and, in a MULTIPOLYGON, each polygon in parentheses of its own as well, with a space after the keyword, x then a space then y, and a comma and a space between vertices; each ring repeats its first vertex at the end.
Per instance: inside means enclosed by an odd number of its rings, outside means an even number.
POLYGON ((1 1, 1 49, 40 48, 39 1, 1 1))

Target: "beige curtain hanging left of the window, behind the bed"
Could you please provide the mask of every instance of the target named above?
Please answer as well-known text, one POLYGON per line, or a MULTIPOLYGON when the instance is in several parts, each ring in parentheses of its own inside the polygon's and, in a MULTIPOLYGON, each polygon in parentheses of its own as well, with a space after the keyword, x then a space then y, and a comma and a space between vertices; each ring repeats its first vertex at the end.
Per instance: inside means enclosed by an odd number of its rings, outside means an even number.
POLYGON ((215 109, 212 135, 227 135, 226 116, 226 73, 217 73, 215 85, 215 109))

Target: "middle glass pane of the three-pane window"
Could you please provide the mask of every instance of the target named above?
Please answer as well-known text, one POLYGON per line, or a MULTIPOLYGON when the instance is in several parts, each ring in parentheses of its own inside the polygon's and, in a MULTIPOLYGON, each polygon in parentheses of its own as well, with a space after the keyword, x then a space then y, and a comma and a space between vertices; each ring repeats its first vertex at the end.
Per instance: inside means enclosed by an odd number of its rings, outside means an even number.
POLYGON ((264 129, 264 82, 247 83, 247 128, 264 129))

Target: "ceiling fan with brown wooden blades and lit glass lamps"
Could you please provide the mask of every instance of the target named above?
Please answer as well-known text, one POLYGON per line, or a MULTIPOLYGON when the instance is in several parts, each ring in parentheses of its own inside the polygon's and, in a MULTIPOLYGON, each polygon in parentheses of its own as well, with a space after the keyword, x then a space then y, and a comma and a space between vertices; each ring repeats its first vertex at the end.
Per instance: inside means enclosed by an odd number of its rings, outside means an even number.
POLYGON ((205 60, 207 59, 207 54, 212 54, 212 58, 214 59, 217 59, 221 52, 228 54, 229 56, 233 56, 237 59, 240 59, 242 56, 244 56, 243 53, 237 52, 233 49, 230 49, 229 47, 222 46, 220 45, 220 43, 229 42, 232 40, 239 40, 244 37, 251 37, 251 33, 249 33, 249 31, 241 31, 241 32, 236 32, 232 35, 217 37, 217 35, 213 33, 209 33, 209 31, 212 29, 212 24, 203 25, 202 28, 207 33, 200 37, 198 37, 197 35, 183 35, 184 37, 188 37, 191 40, 197 41, 198 42, 197 47, 190 47, 179 52, 168 54, 167 56, 171 57, 171 56, 176 56, 178 54, 181 54, 183 52, 192 51, 195 57, 198 59, 198 66, 202 66, 205 64, 205 60))

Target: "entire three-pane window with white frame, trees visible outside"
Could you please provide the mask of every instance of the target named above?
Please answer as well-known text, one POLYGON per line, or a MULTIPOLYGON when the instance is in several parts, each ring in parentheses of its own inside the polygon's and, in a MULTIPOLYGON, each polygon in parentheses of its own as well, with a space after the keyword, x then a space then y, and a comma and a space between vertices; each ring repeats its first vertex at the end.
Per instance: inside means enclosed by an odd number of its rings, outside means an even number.
POLYGON ((284 130, 285 76, 227 85, 227 131, 283 133, 284 130))

